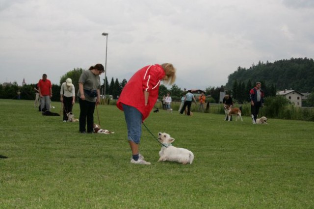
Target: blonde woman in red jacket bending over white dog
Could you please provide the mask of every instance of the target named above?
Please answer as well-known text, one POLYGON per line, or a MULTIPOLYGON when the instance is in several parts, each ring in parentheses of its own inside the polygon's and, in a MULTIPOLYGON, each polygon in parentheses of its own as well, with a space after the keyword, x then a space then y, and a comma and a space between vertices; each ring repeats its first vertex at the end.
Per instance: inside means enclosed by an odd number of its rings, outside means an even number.
POLYGON ((124 86, 117 107, 124 111, 128 140, 132 151, 131 163, 150 165, 139 154, 142 122, 149 116, 158 98, 160 81, 173 84, 176 69, 170 63, 148 65, 138 70, 124 86))

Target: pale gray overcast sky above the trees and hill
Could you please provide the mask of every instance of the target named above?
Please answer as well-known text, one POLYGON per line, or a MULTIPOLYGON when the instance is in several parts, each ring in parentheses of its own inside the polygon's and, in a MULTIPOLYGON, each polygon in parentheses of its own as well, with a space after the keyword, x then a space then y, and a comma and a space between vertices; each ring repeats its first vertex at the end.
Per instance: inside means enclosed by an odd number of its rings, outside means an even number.
POLYGON ((105 66, 106 32, 109 81, 170 62, 179 87, 205 89, 238 66, 313 58, 314 0, 0 0, 0 31, 0 83, 105 66))

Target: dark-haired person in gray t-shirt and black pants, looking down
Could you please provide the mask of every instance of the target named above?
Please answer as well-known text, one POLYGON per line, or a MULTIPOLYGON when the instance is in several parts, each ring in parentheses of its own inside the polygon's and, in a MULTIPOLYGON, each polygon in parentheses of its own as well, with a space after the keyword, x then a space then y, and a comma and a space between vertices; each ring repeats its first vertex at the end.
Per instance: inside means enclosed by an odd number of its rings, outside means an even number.
POLYGON ((104 72, 102 64, 91 66, 82 72, 78 79, 79 132, 93 132, 95 106, 100 102, 100 77, 104 72))

